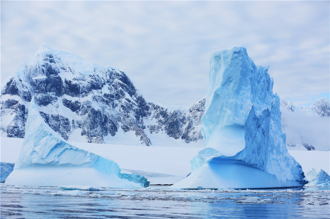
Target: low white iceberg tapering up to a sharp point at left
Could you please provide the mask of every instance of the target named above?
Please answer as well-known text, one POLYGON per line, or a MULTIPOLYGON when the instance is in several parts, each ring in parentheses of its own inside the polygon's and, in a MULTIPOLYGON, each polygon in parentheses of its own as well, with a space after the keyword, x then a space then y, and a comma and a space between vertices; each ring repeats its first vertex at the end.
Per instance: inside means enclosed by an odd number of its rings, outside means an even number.
POLYGON ((139 188, 148 187, 149 181, 122 173, 114 161, 70 145, 45 123, 32 98, 19 160, 5 184, 139 188))

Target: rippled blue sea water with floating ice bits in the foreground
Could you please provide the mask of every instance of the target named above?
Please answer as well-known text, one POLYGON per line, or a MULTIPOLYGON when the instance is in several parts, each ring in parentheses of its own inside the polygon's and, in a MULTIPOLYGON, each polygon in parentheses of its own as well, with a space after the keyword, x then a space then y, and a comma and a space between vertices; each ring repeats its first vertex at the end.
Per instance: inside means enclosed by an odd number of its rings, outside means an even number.
POLYGON ((173 190, 0 185, 1 219, 330 218, 330 188, 173 190))

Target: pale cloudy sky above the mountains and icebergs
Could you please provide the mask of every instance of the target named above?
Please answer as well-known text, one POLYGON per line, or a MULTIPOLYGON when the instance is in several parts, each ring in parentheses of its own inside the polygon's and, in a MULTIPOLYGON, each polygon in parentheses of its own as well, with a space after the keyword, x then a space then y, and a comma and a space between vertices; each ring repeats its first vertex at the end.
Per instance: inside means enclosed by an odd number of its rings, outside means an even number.
POLYGON ((205 97, 210 54, 245 47, 297 106, 330 93, 329 1, 1 1, 1 84, 46 43, 124 71, 145 99, 205 97))

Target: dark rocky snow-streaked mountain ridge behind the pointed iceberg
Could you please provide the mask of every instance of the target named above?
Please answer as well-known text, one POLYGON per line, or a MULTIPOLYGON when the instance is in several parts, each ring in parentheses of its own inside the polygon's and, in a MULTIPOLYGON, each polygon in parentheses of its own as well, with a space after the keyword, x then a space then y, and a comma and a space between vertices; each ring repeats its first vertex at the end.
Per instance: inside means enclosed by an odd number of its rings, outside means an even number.
POLYGON ((119 69, 45 44, 1 87, 1 136, 24 137, 32 97, 45 122, 66 140, 204 145, 205 99, 189 109, 147 102, 119 69))

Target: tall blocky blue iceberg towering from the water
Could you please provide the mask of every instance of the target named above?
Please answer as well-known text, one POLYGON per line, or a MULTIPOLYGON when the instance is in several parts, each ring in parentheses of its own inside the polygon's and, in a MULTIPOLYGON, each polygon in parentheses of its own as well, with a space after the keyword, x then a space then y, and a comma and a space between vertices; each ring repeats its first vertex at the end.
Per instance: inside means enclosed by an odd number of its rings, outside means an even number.
POLYGON ((303 186, 300 164, 286 149, 279 97, 268 67, 256 66, 245 48, 215 52, 202 130, 208 148, 176 188, 303 186))

